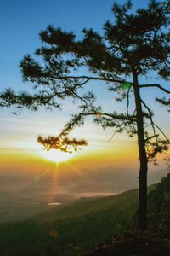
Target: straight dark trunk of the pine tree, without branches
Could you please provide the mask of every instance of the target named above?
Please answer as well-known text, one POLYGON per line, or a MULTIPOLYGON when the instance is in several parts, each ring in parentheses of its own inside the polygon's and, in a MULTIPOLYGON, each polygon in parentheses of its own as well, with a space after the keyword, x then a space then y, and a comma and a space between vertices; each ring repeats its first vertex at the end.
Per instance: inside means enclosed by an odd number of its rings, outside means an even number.
POLYGON ((139 147, 139 230, 147 230, 147 171, 148 160, 144 142, 144 115, 139 91, 138 75, 133 73, 139 147))

